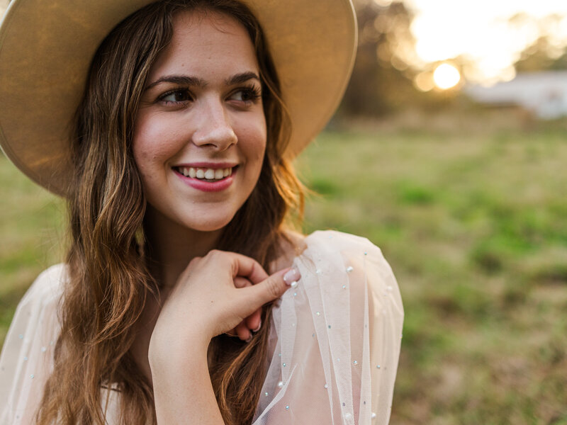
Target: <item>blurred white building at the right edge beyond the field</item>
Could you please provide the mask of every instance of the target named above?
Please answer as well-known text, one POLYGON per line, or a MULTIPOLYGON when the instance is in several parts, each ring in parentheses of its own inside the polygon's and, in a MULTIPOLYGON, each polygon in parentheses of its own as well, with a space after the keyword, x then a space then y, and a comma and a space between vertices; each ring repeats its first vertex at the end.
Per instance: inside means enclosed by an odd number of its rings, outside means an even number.
POLYGON ((567 71, 518 74, 490 87, 466 86, 464 92, 478 103, 521 106, 544 120, 567 116, 567 71))

